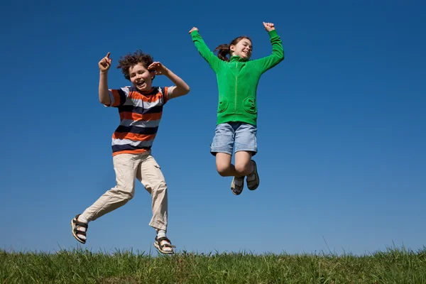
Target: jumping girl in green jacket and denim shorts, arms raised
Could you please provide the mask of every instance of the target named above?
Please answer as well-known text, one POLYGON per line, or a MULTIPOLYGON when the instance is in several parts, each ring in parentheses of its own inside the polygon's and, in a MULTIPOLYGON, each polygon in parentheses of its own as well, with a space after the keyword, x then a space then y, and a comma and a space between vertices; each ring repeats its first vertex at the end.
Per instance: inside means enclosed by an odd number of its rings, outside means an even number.
POLYGON ((256 90, 261 75, 284 60, 283 45, 273 23, 263 23, 263 27, 268 31, 272 54, 257 60, 250 60, 253 48, 247 36, 219 45, 214 49, 218 52, 216 56, 198 29, 190 30, 195 47, 217 76, 219 105, 211 153, 216 156, 219 175, 234 177, 231 182, 234 195, 241 194, 244 177, 249 190, 256 190, 259 185, 256 162, 251 160, 257 153, 256 90), (233 148, 235 165, 231 164, 233 148))

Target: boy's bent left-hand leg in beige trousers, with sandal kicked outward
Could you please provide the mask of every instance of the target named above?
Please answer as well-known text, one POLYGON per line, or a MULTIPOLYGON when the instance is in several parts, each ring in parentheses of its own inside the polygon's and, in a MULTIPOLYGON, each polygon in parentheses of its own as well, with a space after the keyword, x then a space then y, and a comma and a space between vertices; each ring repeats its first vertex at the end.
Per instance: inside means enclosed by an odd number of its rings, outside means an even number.
MULTIPOLYGON (((116 173, 116 186, 99 197, 99 199, 75 218, 75 222, 88 223, 94 221, 108 212, 117 209, 133 198, 135 188, 135 177, 138 164, 141 160, 135 154, 119 154, 113 157, 114 170, 116 173)), ((74 219, 73 219, 74 221, 74 219)), ((78 234, 85 231, 83 226, 75 226, 73 230, 77 240, 85 241, 86 237, 78 234), (75 229, 77 231, 75 231, 75 229)))

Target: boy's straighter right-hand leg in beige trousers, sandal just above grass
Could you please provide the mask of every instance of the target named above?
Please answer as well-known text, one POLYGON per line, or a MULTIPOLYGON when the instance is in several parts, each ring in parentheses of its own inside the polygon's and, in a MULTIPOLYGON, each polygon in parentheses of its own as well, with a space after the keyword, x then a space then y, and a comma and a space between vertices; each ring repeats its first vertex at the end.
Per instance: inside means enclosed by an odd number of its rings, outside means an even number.
POLYGON ((142 154, 142 163, 138 167, 136 178, 140 180, 146 191, 151 194, 153 217, 149 223, 155 231, 154 246, 162 253, 173 253, 170 240, 166 236, 168 222, 168 195, 167 184, 160 165, 155 161, 151 153, 142 154))

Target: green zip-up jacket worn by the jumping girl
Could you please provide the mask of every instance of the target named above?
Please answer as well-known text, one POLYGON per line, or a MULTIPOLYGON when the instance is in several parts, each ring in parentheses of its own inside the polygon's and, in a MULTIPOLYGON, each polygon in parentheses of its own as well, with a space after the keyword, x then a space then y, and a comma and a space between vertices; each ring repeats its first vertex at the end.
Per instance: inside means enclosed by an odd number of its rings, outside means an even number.
POLYGON ((198 31, 192 31, 195 47, 216 73, 219 89, 217 124, 239 121, 256 125, 259 79, 264 72, 284 60, 280 36, 275 30, 268 34, 272 44, 271 55, 256 60, 244 60, 235 55, 226 62, 212 53, 198 31))

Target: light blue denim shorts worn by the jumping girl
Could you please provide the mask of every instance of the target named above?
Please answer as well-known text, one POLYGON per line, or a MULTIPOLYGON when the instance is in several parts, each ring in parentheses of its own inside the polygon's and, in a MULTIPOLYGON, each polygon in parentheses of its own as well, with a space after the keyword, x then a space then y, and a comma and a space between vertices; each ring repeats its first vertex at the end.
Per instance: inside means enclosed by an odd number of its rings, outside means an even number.
POLYGON ((218 124, 214 131, 213 143, 210 153, 228 153, 232 151, 249 151, 252 155, 257 153, 256 140, 257 126, 244 122, 227 122, 218 124))

